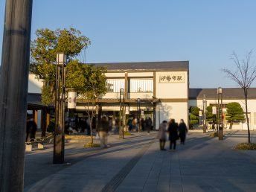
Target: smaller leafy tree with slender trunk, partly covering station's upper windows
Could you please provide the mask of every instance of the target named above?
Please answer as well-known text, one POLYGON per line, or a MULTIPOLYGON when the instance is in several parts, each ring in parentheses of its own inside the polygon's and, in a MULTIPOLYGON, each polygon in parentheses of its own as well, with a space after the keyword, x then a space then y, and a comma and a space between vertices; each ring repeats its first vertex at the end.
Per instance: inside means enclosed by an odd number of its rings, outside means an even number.
POLYGON ((106 68, 95 67, 71 61, 67 66, 66 86, 77 92, 77 98, 87 103, 86 112, 90 120, 91 141, 92 120, 95 117, 97 101, 106 94, 106 68))

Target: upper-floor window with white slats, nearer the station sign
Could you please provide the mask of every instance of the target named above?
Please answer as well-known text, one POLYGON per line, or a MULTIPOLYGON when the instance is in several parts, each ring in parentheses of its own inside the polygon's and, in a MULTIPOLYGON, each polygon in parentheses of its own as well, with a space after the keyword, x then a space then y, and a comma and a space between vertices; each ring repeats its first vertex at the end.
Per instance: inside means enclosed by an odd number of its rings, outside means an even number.
POLYGON ((153 79, 130 79, 129 92, 153 92, 153 79))

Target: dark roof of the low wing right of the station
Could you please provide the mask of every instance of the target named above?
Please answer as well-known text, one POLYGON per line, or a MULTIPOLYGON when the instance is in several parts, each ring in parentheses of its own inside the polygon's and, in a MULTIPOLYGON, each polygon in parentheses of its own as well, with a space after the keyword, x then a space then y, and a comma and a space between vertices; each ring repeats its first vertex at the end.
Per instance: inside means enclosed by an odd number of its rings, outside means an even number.
MULTIPOLYGON (((189 99, 217 99, 217 88, 214 89, 189 89, 189 99)), ((256 88, 250 88, 248 91, 249 99, 256 99, 256 88)), ((223 88, 223 99, 244 99, 243 89, 241 88, 223 88)))

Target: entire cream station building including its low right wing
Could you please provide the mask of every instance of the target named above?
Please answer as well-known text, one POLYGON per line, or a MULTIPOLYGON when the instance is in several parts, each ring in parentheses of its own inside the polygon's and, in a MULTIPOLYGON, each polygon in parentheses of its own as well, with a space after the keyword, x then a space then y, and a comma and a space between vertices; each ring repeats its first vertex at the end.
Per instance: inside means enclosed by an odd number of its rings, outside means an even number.
MULTIPOLYGON (((100 97, 98 104, 100 114, 119 117, 120 89, 124 89, 124 103, 129 109, 130 118, 152 118, 153 127, 158 129, 161 121, 174 118, 184 119, 189 123, 190 106, 202 109, 205 95, 207 106, 217 105, 216 89, 189 88, 189 62, 141 62, 141 63, 96 63, 106 66, 106 95, 100 97)), ((49 109, 40 103, 42 81, 36 80, 34 74, 29 76, 28 109, 35 115, 39 128, 45 129, 49 121, 49 109), (44 124, 44 119, 47 119, 44 124)), ((240 88, 223 88, 223 106, 238 102, 245 111, 243 90, 240 88)), ((249 124, 256 129, 256 88, 249 89, 249 124)), ((75 112, 86 115, 86 103, 78 99, 75 112)), ((51 109, 53 107, 51 106, 51 109)), ((228 128, 228 121, 224 120, 228 128)), ((246 122, 234 124, 233 129, 246 129, 246 122)))

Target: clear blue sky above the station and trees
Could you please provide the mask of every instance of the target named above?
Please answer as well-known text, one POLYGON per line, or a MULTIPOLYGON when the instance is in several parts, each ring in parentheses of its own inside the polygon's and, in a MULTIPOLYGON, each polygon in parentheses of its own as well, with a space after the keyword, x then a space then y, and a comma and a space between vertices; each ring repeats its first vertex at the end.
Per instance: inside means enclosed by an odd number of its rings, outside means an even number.
POLYGON ((255 0, 33 0, 31 39, 73 27, 92 41, 86 63, 188 60, 191 88, 238 87, 221 69, 234 70, 233 51, 242 60, 254 50, 256 65, 255 9, 255 0))

